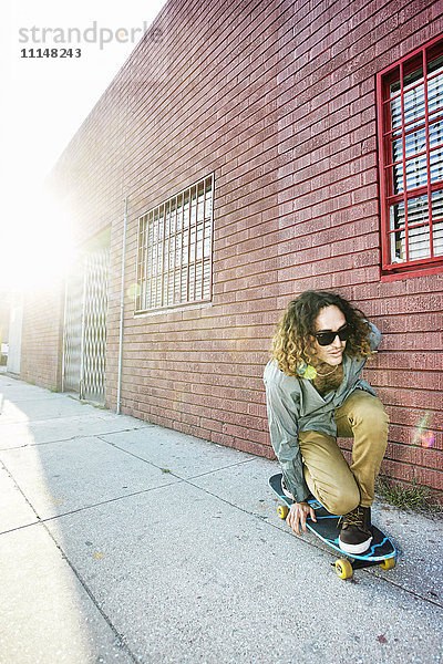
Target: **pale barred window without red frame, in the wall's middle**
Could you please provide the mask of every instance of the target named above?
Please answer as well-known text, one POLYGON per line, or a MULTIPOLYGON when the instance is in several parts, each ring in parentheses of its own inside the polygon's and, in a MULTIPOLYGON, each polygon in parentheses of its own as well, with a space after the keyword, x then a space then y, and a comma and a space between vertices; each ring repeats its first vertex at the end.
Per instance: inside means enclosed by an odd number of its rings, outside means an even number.
POLYGON ((136 312, 212 297, 214 176, 138 219, 136 312))

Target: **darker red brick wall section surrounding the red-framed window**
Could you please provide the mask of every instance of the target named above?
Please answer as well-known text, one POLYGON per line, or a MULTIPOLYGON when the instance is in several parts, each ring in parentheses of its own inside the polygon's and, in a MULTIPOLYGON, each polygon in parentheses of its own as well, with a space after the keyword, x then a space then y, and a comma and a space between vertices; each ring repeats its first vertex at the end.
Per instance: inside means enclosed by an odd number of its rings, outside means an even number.
POLYGON ((338 2, 328 10, 321 2, 298 12, 298 64, 291 71, 288 62, 281 81, 288 112, 280 120, 282 225, 296 232, 279 242, 279 279, 288 298, 293 289, 339 290, 380 328, 381 352, 367 377, 392 423, 382 473, 441 492, 443 276, 382 283, 379 271, 374 75, 443 32, 441 3, 403 4, 338 2), (420 436, 423 422, 435 436, 431 448, 420 436))

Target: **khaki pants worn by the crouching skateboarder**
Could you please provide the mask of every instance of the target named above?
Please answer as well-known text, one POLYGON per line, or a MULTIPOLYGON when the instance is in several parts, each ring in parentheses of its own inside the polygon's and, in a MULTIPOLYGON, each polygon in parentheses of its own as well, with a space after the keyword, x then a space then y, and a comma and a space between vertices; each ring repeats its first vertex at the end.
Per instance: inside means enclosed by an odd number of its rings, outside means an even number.
POLYGON ((336 411, 336 422, 338 436, 353 437, 350 466, 333 436, 300 432, 299 445, 309 490, 330 512, 346 515, 359 505, 370 507, 373 502, 389 417, 375 396, 356 390, 336 411))

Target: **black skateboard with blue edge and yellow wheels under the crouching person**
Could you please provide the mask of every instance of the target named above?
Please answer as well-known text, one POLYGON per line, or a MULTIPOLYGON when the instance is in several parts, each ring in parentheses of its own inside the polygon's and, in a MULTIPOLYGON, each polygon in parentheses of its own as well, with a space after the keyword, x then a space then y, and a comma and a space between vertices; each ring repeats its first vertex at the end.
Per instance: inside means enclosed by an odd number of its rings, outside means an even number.
MULTIPOLYGON (((282 505, 279 505, 278 507, 278 516, 280 519, 286 519, 293 501, 285 496, 281 488, 281 474, 272 475, 272 477, 269 478, 269 486, 282 501, 282 505)), ((389 537, 379 530, 377 526, 371 526, 372 542, 368 551, 359 554, 347 553, 339 547, 340 517, 331 515, 313 496, 308 499, 308 502, 316 510, 317 523, 308 518, 306 522, 307 528, 326 544, 343 556, 343 558, 337 560, 334 564, 336 572, 340 579, 351 579, 353 570, 375 564, 380 564, 383 570, 391 570, 395 567, 395 547, 389 537)))

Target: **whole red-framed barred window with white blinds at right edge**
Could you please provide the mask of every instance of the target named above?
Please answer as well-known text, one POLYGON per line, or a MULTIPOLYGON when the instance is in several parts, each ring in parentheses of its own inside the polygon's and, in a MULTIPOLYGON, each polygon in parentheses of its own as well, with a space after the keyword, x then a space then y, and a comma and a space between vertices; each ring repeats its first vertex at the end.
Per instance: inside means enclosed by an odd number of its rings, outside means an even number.
POLYGON ((377 77, 383 273, 443 271, 443 37, 377 77))

